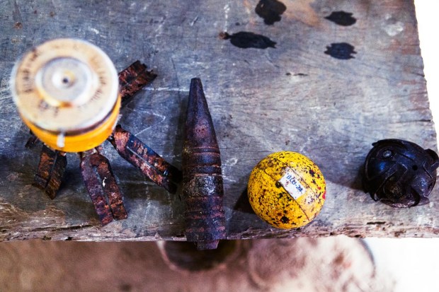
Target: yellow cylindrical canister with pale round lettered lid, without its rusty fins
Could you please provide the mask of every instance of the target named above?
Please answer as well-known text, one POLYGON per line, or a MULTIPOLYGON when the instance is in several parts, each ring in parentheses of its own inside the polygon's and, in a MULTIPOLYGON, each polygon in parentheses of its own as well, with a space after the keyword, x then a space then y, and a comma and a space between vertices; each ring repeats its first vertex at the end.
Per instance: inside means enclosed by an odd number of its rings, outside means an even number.
POLYGON ((50 148, 87 151, 113 132, 120 108, 118 73, 95 45, 45 42, 16 64, 11 81, 23 122, 50 148))

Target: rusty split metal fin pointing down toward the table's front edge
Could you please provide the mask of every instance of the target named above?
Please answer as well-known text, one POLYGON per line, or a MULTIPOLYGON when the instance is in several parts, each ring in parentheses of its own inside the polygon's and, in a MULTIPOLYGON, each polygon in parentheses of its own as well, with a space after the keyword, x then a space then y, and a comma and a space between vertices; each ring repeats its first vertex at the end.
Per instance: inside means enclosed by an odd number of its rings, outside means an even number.
POLYGON ((98 147, 80 153, 81 175, 99 220, 104 226, 113 221, 113 218, 116 220, 127 218, 127 211, 123 206, 122 194, 110 163, 100 151, 101 147, 98 147), (108 197, 108 202, 106 197, 108 197))

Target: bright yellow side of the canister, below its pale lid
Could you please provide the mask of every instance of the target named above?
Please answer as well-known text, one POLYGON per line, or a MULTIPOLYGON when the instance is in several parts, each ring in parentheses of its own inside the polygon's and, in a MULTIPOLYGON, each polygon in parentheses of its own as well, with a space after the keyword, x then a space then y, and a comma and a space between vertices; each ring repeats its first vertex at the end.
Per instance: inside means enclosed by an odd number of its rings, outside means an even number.
POLYGON ((36 127, 25 119, 23 115, 21 118, 26 126, 29 127, 30 131, 35 134, 44 144, 50 148, 63 151, 63 152, 82 152, 87 151, 101 145, 108 136, 113 132, 116 123, 118 122, 120 110, 120 96, 116 101, 115 107, 106 119, 100 124, 96 125, 89 131, 82 133, 55 133, 48 132, 44 129, 36 127))

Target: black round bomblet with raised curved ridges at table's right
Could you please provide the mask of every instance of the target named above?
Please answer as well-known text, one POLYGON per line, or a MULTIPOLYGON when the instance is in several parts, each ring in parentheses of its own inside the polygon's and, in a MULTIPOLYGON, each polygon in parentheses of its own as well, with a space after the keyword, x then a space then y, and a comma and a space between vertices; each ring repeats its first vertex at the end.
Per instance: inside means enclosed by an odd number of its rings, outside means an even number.
POLYGON ((364 165, 365 192, 375 201, 396 208, 428 204, 436 182, 438 154, 399 139, 372 145, 364 165))

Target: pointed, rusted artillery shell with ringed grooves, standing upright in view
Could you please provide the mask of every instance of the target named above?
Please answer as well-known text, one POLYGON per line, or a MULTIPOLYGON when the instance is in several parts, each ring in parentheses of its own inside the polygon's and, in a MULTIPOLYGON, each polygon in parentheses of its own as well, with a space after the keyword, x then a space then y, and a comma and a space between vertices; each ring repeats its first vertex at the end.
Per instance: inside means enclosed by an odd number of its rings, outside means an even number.
POLYGON ((183 141, 183 199, 186 238, 198 250, 217 248, 226 238, 220 148, 199 78, 190 81, 183 141))

